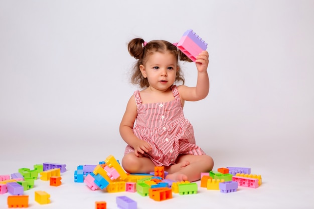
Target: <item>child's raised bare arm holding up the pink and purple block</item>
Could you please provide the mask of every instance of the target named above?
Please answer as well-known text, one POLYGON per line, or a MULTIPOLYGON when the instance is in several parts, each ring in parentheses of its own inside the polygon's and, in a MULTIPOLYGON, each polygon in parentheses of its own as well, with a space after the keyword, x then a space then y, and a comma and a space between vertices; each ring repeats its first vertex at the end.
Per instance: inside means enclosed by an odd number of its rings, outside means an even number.
POLYGON ((197 83, 195 87, 179 86, 178 91, 182 100, 198 101, 204 99, 209 92, 209 78, 207 73, 208 52, 203 51, 197 57, 195 63, 197 68, 197 83))

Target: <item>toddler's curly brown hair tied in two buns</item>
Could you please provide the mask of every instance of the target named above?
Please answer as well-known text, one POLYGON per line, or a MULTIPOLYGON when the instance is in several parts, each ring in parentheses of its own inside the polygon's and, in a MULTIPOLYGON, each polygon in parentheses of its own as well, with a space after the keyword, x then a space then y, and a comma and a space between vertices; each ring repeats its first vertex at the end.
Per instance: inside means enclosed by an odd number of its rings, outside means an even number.
MULTIPOLYGON (((135 38, 128 43, 127 48, 130 55, 137 60, 134 64, 133 74, 130 81, 132 84, 138 84, 141 88, 149 86, 147 78, 144 78, 139 70, 139 66, 147 61, 149 54, 153 52, 165 53, 168 51, 176 57, 177 61, 180 59, 181 61, 192 62, 192 60, 178 50, 174 44, 164 40, 154 40, 146 43, 143 39, 135 38)), ((176 74, 176 81, 181 81, 184 84, 184 77, 179 64, 178 67, 179 70, 176 74)))

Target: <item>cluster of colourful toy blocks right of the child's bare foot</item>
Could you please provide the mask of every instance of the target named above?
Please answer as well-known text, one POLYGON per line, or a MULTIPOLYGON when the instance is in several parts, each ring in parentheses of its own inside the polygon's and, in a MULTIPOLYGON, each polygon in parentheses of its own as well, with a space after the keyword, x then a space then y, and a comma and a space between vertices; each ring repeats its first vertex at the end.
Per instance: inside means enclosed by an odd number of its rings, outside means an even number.
POLYGON ((201 187, 223 193, 237 191, 238 186, 257 188, 261 183, 261 175, 251 174, 251 168, 222 167, 218 171, 201 173, 201 187))

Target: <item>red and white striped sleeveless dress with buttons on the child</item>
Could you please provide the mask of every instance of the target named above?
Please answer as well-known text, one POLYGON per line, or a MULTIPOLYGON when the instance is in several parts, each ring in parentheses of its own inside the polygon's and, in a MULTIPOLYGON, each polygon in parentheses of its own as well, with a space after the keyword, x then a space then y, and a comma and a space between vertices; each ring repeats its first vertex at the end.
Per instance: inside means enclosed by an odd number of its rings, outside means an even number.
MULTIPOLYGON (((134 92, 137 117, 133 132, 151 145, 152 150, 144 155, 156 166, 175 164, 179 154, 205 154, 195 144, 193 126, 184 117, 177 86, 171 88, 174 100, 151 104, 143 104, 139 91, 134 92)), ((134 149, 127 145, 124 155, 130 152, 134 149)))

